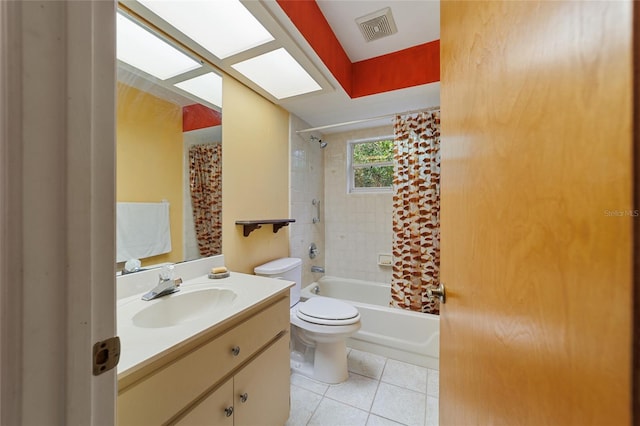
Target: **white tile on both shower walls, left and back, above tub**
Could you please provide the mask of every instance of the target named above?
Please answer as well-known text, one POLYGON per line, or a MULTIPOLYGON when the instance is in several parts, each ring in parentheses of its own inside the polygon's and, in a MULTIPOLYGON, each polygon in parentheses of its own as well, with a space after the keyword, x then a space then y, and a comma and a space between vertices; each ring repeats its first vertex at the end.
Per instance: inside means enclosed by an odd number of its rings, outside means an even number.
POLYGON ((291 117, 291 217, 290 255, 303 260, 303 285, 322 274, 312 274, 312 265, 324 266, 327 275, 378 282, 391 282, 391 268, 377 264, 379 253, 391 253, 390 193, 347 194, 346 147, 350 139, 393 133, 391 125, 331 135, 315 134, 328 142, 325 149, 296 130, 310 127, 291 117), (311 201, 321 200, 321 222, 311 201), (308 247, 320 249, 313 260, 308 247))

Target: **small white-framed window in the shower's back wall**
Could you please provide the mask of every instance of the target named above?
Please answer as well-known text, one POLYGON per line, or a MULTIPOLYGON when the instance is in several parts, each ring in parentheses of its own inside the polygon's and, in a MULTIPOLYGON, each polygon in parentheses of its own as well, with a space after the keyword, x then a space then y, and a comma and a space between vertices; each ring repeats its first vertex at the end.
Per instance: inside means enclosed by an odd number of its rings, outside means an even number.
POLYGON ((391 191, 393 137, 350 141, 348 175, 349 192, 391 191))

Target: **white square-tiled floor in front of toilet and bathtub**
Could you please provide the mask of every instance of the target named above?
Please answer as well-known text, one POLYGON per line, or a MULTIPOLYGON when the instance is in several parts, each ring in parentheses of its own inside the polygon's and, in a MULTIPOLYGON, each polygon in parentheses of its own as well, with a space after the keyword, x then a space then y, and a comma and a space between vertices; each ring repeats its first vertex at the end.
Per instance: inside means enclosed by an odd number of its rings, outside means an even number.
POLYGON ((327 385, 291 375, 286 426, 438 424, 438 370, 349 349, 349 379, 327 385))

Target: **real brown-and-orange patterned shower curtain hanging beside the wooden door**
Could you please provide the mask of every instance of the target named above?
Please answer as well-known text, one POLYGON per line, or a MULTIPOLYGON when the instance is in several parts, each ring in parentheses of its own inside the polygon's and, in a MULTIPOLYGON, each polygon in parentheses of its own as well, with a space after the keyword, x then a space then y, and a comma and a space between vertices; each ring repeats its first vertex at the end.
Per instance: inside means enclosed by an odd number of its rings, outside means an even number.
POLYGON ((391 306, 440 313, 427 297, 440 270, 440 111, 394 123, 391 306))

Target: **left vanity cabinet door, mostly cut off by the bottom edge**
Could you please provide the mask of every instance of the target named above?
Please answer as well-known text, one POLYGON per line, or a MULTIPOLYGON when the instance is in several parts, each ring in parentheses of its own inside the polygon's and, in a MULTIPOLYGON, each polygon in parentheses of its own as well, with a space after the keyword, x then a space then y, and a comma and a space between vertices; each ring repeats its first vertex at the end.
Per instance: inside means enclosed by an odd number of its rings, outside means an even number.
POLYGON ((233 426, 233 380, 229 379, 215 392, 196 405, 175 425, 233 426))

